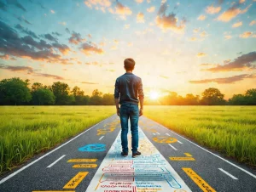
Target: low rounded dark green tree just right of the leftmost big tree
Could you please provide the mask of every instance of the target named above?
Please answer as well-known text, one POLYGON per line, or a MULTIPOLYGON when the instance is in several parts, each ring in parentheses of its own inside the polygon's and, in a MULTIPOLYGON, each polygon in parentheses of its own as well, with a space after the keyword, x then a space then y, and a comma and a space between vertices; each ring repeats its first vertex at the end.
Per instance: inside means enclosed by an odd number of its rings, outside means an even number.
POLYGON ((55 95, 47 88, 38 88, 32 93, 34 104, 55 104, 55 95))

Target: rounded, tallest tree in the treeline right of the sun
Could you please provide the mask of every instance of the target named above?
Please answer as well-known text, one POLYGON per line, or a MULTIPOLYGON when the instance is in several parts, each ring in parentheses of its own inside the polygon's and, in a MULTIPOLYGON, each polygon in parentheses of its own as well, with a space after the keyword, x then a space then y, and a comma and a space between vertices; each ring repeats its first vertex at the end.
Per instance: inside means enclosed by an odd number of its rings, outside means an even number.
POLYGON ((218 88, 207 88, 202 93, 201 104, 207 104, 207 105, 225 104, 224 94, 220 93, 218 88))

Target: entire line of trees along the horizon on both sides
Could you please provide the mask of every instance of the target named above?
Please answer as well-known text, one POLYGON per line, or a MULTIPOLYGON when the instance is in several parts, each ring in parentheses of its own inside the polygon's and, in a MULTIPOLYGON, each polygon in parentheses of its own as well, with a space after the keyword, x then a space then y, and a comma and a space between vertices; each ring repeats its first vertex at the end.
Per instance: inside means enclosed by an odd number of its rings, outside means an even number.
MULTIPOLYGON (((256 88, 248 89, 244 94, 234 94, 232 98, 225 100, 224 94, 218 88, 207 88, 201 97, 188 93, 185 97, 175 92, 151 100, 144 99, 144 104, 162 105, 255 105, 256 88)), ((30 83, 19 77, 3 79, 0 82, 0 104, 2 105, 112 105, 114 104, 113 93, 100 92, 95 89, 91 95, 75 86, 71 89, 65 82, 53 82, 46 86, 40 82, 30 83)))

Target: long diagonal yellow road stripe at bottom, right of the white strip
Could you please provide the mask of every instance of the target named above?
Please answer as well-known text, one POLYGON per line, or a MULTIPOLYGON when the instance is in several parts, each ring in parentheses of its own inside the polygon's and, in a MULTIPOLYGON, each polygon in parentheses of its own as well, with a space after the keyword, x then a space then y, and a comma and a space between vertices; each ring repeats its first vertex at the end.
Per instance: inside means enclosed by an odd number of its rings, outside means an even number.
POLYGON ((207 182, 204 179, 202 179, 198 174, 196 174, 196 172, 194 172, 191 168, 183 167, 183 171, 187 173, 189 178, 191 178, 195 182, 195 184, 197 184, 198 187, 200 187, 200 189, 202 189, 202 191, 216 192, 216 190, 212 189, 212 187, 209 184, 207 184, 207 182))

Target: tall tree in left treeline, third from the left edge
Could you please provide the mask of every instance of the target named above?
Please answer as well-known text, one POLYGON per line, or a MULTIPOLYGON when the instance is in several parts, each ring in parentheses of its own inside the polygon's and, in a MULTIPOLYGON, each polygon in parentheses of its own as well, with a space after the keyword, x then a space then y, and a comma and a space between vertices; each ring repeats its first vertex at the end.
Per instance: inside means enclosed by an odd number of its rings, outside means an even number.
POLYGON ((70 88, 67 83, 54 82, 51 90, 55 94, 55 104, 72 104, 75 101, 74 96, 69 95, 70 88))

